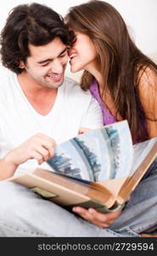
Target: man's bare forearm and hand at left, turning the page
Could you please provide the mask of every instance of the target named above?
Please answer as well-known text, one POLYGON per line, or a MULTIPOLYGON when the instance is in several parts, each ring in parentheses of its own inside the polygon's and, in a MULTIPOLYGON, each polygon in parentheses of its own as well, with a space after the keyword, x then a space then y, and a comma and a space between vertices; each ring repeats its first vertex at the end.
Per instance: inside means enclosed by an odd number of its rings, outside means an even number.
POLYGON ((12 177, 17 167, 26 160, 36 159, 39 165, 42 164, 53 156, 54 146, 54 140, 41 133, 31 137, 0 160, 0 180, 12 177))

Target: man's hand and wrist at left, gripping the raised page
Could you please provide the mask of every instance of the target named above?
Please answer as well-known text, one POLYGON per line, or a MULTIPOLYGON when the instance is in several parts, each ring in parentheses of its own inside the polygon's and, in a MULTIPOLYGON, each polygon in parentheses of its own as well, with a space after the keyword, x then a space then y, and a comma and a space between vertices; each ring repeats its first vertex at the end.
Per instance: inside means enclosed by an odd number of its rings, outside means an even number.
POLYGON ((55 144, 51 137, 37 133, 18 148, 10 151, 4 160, 18 167, 20 164, 25 163, 26 160, 36 159, 40 165, 43 161, 53 156, 55 144))

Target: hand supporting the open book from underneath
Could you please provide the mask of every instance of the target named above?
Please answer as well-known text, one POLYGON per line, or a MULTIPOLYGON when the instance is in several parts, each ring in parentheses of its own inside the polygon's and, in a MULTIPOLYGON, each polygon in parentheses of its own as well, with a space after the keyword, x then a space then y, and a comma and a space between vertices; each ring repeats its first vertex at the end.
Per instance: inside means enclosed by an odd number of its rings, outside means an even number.
POLYGON ((95 224, 99 228, 107 228, 110 224, 115 222, 115 219, 118 218, 121 214, 121 211, 109 212, 109 213, 100 213, 89 208, 88 210, 82 207, 73 207, 73 212, 78 213, 82 218, 86 219, 88 222, 95 224))

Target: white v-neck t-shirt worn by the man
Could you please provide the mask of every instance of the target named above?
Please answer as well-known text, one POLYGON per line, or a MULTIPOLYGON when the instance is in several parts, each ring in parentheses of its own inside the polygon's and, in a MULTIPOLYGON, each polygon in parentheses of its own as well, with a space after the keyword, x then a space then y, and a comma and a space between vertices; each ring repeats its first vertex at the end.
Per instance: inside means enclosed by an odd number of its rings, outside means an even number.
MULTIPOLYGON (((64 79, 52 110, 42 116, 28 102, 15 73, 5 71, 0 77, 1 159, 37 132, 53 137, 56 143, 62 143, 75 137, 81 127, 96 129, 102 125, 103 117, 98 102, 72 79, 64 79)), ((17 171, 36 167, 39 167, 36 160, 28 160, 17 171)), ((50 169, 46 162, 40 167, 50 169)))

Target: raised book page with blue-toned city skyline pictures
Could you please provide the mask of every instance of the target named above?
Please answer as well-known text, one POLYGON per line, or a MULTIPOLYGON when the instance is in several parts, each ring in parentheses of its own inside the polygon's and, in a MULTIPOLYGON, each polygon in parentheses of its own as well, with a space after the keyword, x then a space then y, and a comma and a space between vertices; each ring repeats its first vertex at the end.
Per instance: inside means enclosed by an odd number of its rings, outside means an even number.
POLYGON ((127 177, 132 166, 132 137, 126 120, 59 144, 48 164, 54 172, 89 181, 127 177))

